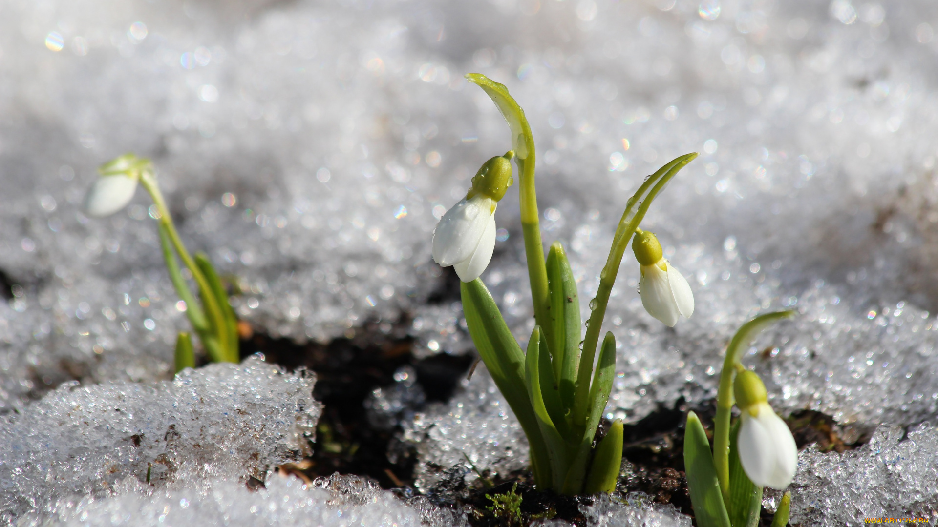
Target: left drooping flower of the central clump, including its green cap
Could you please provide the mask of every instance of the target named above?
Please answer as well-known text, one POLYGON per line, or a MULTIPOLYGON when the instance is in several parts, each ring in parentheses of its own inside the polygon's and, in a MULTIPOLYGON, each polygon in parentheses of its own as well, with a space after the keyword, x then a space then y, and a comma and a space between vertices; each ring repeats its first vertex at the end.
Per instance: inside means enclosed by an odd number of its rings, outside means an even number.
POLYGON ((514 152, 491 158, 472 178, 466 197, 446 211, 433 230, 433 261, 456 269, 462 281, 477 279, 495 249, 495 206, 511 186, 514 152))

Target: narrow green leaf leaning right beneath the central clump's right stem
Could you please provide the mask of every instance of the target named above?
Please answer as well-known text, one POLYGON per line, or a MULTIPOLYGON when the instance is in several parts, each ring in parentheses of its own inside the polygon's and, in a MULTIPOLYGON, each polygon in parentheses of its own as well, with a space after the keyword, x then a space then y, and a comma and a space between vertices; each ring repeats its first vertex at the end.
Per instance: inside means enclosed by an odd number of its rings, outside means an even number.
POLYGON ((565 494, 579 494, 582 491, 583 479, 586 476, 586 463, 589 461, 590 447, 596 436, 599 419, 609 402, 609 394, 613 391, 613 378, 615 377, 615 337, 611 331, 606 332, 599 351, 599 362, 593 373, 593 384, 589 391, 589 414, 586 415, 585 428, 582 429, 580 446, 576 456, 570 462, 570 470, 564 481, 565 494))

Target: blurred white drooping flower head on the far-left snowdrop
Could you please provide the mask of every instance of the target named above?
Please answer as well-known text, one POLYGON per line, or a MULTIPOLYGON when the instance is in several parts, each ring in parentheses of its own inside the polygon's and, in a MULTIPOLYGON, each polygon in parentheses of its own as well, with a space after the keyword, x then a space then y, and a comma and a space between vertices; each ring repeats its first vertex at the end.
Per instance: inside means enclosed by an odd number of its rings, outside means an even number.
POLYGON ((98 180, 84 197, 84 211, 92 218, 104 218, 127 206, 137 190, 137 183, 148 159, 127 154, 98 168, 98 180))

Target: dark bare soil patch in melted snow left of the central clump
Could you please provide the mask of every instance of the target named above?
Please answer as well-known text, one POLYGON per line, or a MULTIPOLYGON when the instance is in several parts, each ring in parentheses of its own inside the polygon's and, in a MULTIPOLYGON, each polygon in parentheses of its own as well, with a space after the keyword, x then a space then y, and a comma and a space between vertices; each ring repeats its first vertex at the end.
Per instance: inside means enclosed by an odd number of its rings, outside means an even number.
POLYGON ((409 324, 406 320, 365 324, 354 337, 327 344, 297 344, 261 333, 242 339, 243 357, 260 353, 268 362, 287 369, 306 367, 316 372, 312 395, 323 403, 323 414, 313 455, 290 467, 292 472, 308 479, 336 472, 367 475, 385 489, 413 485, 413 452, 400 453, 396 462, 388 459, 395 430, 373 427, 365 400, 375 388, 394 384, 394 373, 409 366, 416 371, 416 384, 423 388, 427 402, 446 401, 475 359, 449 354, 417 359, 413 340, 406 334, 409 324))

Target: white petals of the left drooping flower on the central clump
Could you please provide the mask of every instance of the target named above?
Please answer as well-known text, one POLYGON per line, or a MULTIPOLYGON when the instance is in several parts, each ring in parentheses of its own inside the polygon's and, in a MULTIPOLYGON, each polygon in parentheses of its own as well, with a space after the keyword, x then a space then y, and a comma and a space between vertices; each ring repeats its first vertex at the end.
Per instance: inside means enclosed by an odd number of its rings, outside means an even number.
POLYGON ((492 218, 491 198, 477 195, 446 211, 433 230, 433 261, 448 267, 472 257, 492 218))

